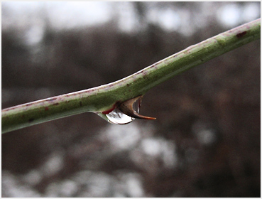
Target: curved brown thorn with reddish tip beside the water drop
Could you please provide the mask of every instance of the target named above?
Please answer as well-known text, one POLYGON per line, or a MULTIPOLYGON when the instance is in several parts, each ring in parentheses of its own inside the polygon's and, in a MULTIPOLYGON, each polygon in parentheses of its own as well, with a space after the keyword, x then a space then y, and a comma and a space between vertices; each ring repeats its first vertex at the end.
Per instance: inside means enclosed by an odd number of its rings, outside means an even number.
POLYGON ((126 102, 123 102, 120 104, 119 109, 121 110, 121 112, 123 112, 124 114, 133 117, 133 118, 137 118, 137 119, 156 119, 155 117, 147 117, 147 116, 143 116, 141 114, 138 114, 134 109, 133 109, 133 104, 138 101, 138 106, 140 107, 141 105, 141 99, 142 99, 142 95, 135 97, 133 99, 129 99, 126 102))

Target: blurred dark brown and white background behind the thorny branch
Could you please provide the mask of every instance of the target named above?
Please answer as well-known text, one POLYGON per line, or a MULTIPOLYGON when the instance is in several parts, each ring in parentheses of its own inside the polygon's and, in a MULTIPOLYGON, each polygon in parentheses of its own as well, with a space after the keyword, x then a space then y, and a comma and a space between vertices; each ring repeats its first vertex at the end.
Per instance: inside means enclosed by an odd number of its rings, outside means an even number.
MULTIPOLYGON (((2 109, 114 82, 260 17, 260 2, 2 2, 2 109)), ((2 197, 260 197, 260 41, 181 73, 126 125, 2 141, 2 197)))

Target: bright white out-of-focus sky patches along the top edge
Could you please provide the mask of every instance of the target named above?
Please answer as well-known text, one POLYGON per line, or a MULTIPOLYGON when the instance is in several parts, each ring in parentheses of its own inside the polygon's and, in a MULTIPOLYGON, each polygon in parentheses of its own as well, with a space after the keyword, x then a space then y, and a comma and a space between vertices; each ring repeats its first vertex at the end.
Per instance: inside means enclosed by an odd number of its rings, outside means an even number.
MULTIPOLYGON (((208 3, 205 3, 208 4, 208 3)), ((168 9, 149 9, 148 21, 157 23, 167 31, 175 31, 185 23, 187 10, 180 12, 168 9), (182 16, 181 16, 182 14, 182 16)), ((226 27, 233 27, 243 20, 245 22, 259 18, 260 8, 250 2, 248 6, 239 7, 232 2, 217 9, 217 18, 226 27)), ((204 15, 204 13, 203 13, 204 15)), ((130 2, 109 1, 6 1, 2 2, 2 28, 10 26, 30 27, 28 38, 37 43, 45 25, 44 17, 53 28, 75 28, 77 26, 97 25, 119 16, 119 28, 122 31, 138 29, 138 21, 130 2), (4 9, 3 9, 4 7, 4 9), (46 18, 45 18, 46 19, 46 18)), ((200 16, 201 18, 202 16, 200 16)), ((183 28, 180 28, 182 30, 183 28)), ((190 31, 187 28, 184 28, 190 31)), ((184 30, 184 31, 185 31, 184 30)), ((183 32, 185 33, 185 32, 183 32)))

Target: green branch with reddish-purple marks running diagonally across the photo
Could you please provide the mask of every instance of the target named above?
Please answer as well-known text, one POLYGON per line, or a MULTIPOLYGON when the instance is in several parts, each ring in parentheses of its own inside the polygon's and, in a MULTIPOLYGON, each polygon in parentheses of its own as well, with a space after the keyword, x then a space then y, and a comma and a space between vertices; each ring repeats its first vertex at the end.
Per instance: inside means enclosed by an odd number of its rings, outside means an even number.
POLYGON ((260 18, 192 45, 124 79, 2 109, 2 133, 83 112, 104 112, 155 85, 261 37, 260 18))

